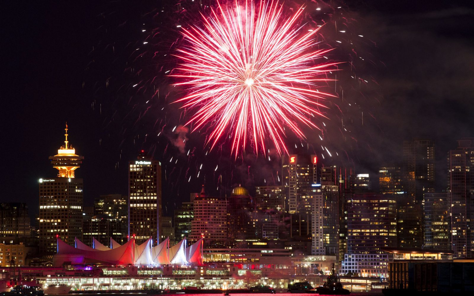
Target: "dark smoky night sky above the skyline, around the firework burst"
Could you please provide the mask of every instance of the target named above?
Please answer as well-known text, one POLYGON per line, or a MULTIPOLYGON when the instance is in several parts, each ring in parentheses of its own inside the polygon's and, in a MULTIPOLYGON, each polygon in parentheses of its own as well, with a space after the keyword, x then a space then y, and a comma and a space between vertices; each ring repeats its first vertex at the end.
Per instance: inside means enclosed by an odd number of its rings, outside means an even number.
MULTIPOLYGON (((180 38, 176 26, 199 19, 196 3, 87 2, 1 4, 1 202, 27 202, 30 214, 37 213, 37 182, 56 174, 48 157, 63 144, 65 121, 70 143, 85 157, 76 171, 84 179, 85 206, 101 194, 127 194, 127 162, 140 149, 163 161, 168 215, 202 184, 210 194, 224 195, 238 184, 251 189, 277 182, 281 164, 272 153, 271 161, 251 150, 234 160, 224 144, 205 155, 202 134, 173 131, 185 119, 170 105, 181 92, 170 86, 166 71, 176 62, 168 54, 180 38)), ((323 2, 291 3, 329 11, 323 2)), ((347 26, 346 35, 336 35, 331 25, 325 29, 329 45, 343 40, 331 58, 353 61, 341 66, 337 78, 335 89, 340 97, 344 90, 345 98, 329 104, 324 143, 308 131, 304 149, 320 153, 322 144, 334 154, 322 163, 376 173, 401 161, 403 140, 432 138, 437 188, 445 188, 447 151, 457 139, 474 136, 473 7, 380 0, 341 6, 343 15, 333 17, 338 30, 347 26), (353 39, 356 50, 344 48, 353 39)), ((314 12, 307 19, 326 17, 314 12)), ((289 142, 301 149, 298 139, 289 142)))

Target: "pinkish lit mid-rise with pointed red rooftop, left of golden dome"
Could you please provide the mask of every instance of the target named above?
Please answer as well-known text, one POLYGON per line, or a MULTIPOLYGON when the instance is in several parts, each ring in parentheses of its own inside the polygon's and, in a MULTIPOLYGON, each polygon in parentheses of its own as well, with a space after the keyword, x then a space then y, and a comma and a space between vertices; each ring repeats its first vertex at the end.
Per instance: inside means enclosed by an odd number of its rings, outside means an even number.
POLYGON ((201 194, 194 197, 194 219, 189 240, 227 240, 227 205, 226 198, 207 197, 202 188, 201 194))

